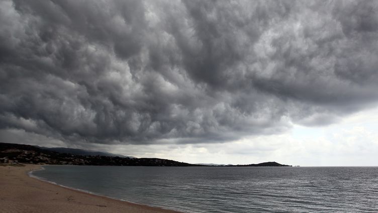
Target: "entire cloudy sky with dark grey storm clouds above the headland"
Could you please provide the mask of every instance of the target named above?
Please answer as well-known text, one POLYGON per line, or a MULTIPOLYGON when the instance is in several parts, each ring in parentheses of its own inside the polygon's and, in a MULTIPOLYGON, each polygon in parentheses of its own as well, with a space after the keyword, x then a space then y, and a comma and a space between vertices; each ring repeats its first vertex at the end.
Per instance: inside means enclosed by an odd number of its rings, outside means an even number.
POLYGON ((377 1, 0 1, 0 142, 378 166, 377 1))

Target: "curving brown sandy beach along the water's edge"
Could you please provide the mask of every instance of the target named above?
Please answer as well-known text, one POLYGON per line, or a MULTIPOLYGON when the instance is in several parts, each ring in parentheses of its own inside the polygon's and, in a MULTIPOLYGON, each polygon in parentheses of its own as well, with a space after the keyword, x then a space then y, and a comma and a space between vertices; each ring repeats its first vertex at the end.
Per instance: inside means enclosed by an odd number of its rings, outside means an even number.
POLYGON ((0 166, 0 212, 177 212, 61 187, 28 176, 40 165, 0 166))

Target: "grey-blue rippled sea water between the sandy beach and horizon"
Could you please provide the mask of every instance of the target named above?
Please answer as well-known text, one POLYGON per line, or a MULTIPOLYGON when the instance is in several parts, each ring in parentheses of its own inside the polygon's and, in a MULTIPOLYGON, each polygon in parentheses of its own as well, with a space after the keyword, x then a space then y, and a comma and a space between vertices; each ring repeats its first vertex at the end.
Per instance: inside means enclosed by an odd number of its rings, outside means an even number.
POLYGON ((33 175, 184 212, 378 212, 378 167, 45 166, 33 175))

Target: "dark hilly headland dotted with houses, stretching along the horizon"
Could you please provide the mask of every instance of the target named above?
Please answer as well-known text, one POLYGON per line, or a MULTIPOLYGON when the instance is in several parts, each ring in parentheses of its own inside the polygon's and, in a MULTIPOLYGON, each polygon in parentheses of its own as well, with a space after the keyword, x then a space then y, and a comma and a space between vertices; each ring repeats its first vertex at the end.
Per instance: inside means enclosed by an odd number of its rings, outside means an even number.
POLYGON ((291 167, 276 162, 246 165, 189 164, 159 158, 135 158, 106 152, 69 148, 44 148, 31 145, 0 143, 0 163, 92 165, 92 166, 220 166, 220 167, 291 167))

